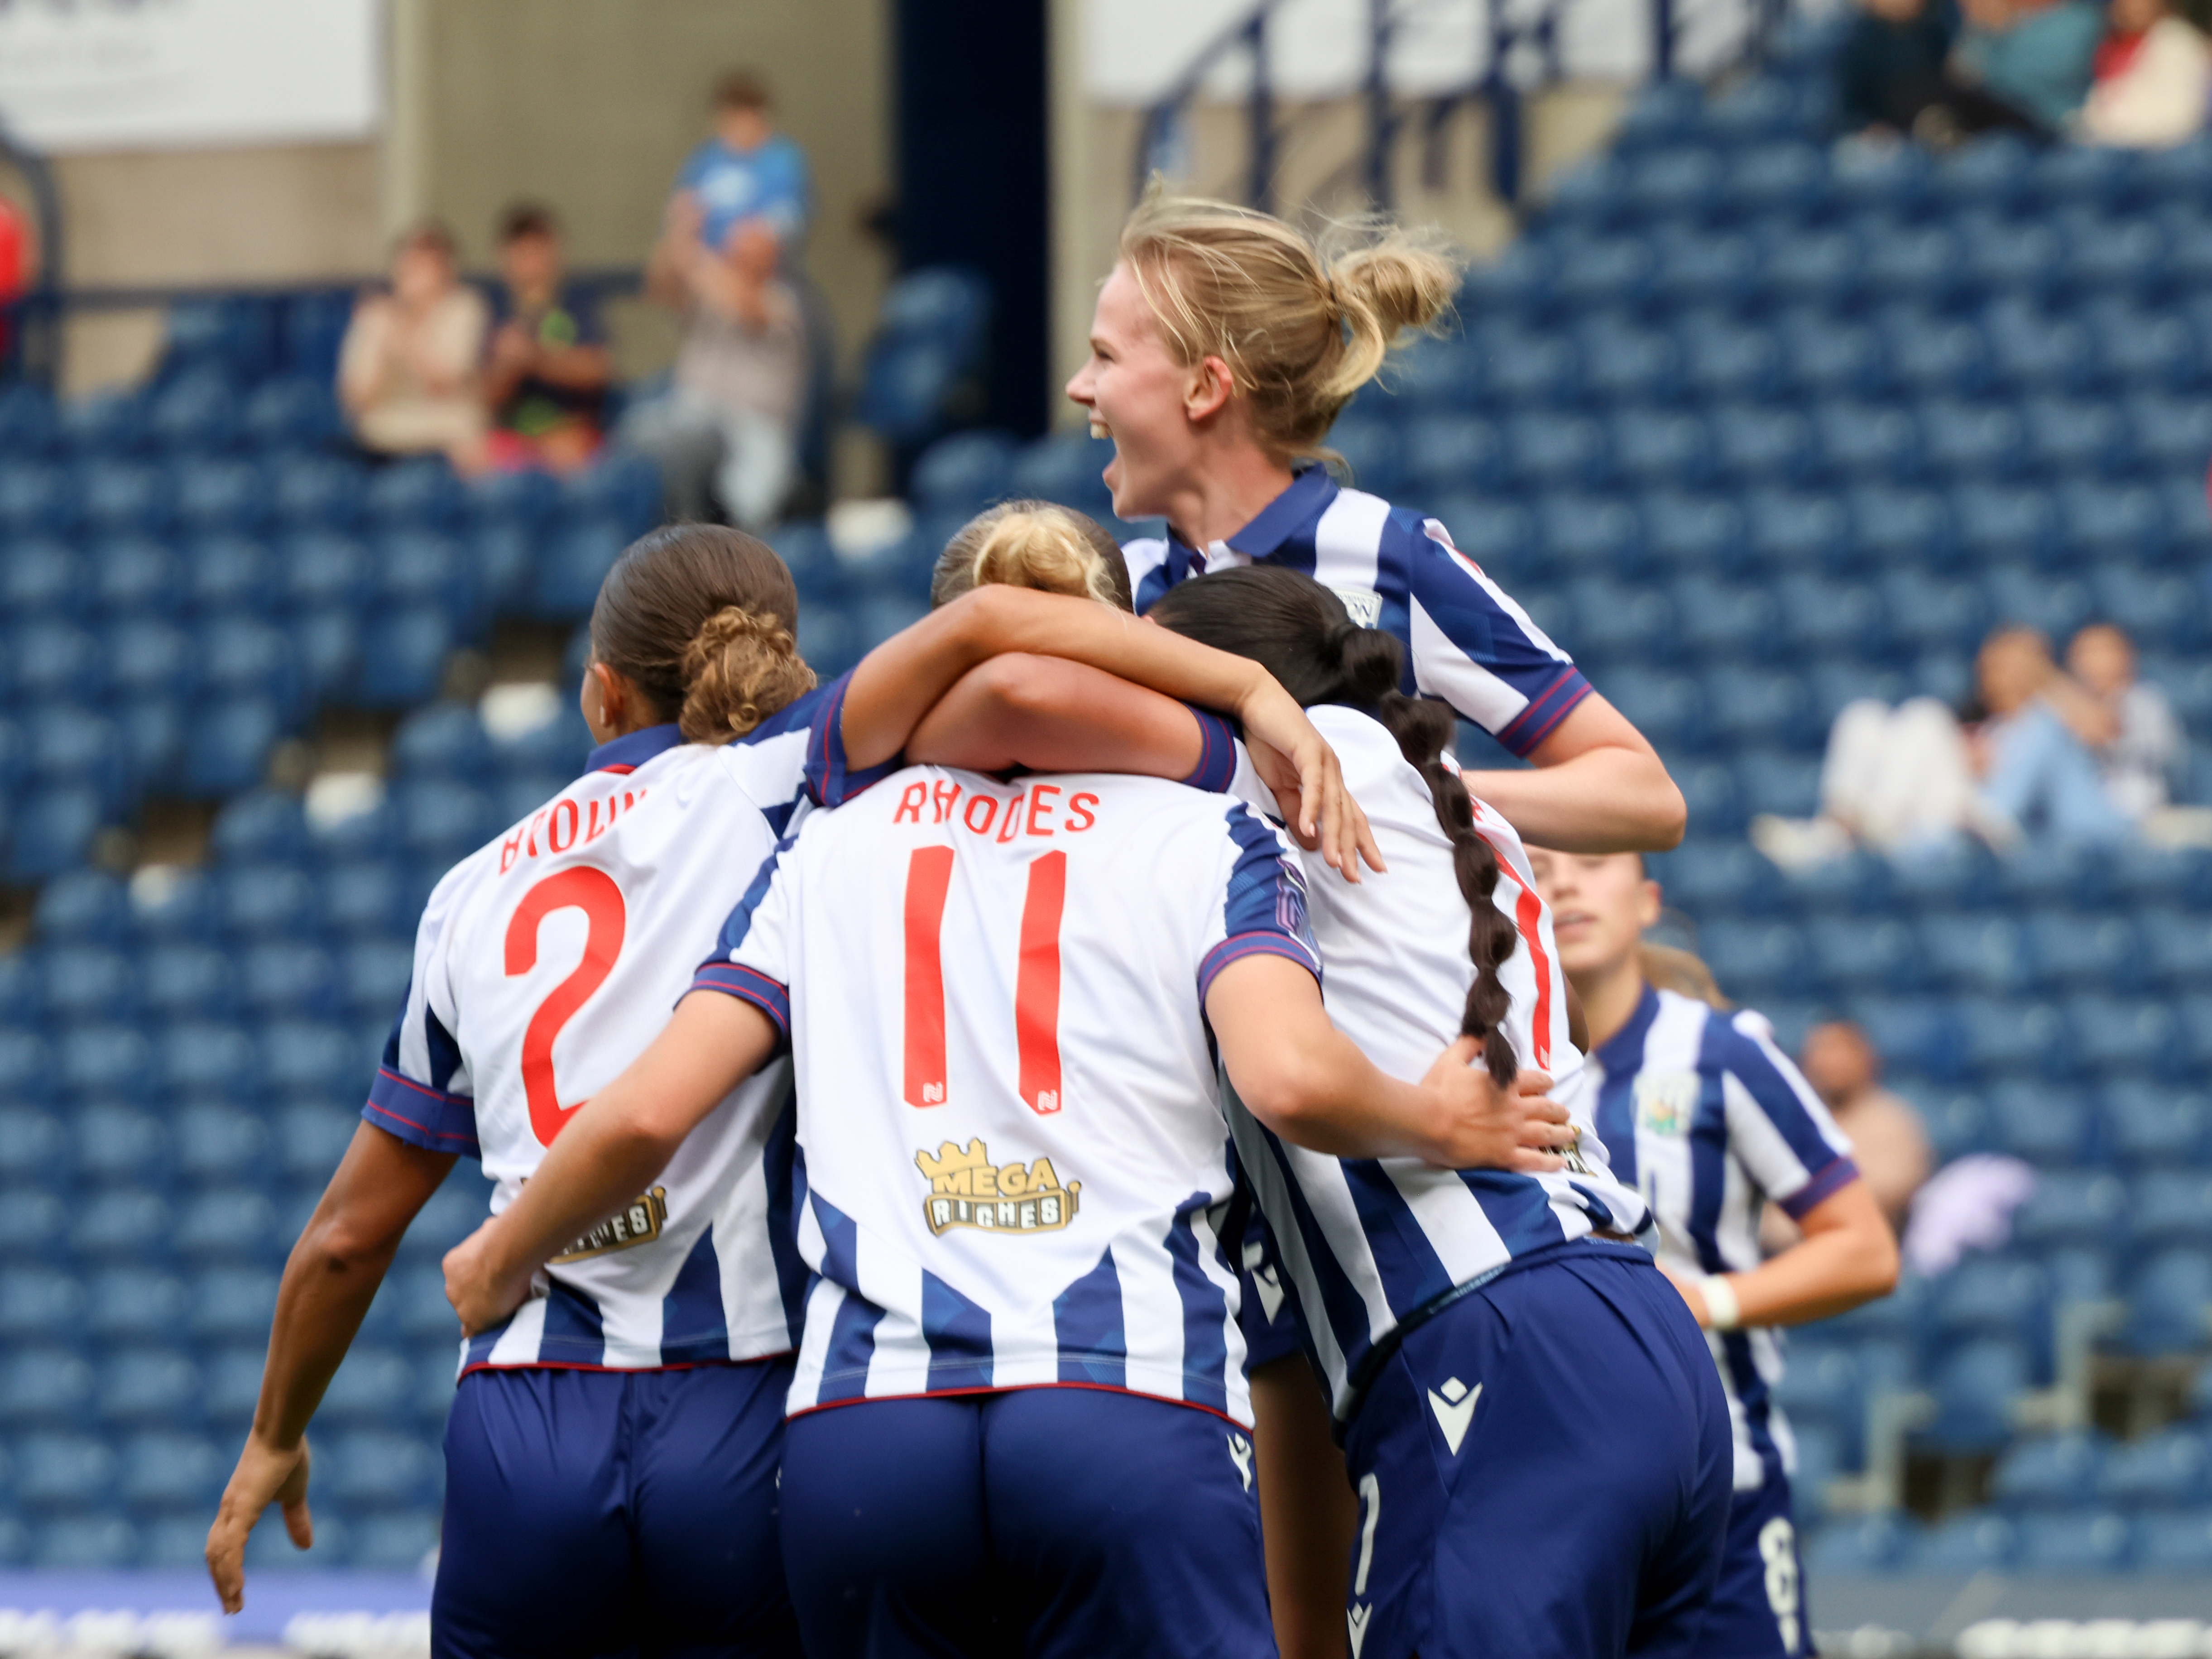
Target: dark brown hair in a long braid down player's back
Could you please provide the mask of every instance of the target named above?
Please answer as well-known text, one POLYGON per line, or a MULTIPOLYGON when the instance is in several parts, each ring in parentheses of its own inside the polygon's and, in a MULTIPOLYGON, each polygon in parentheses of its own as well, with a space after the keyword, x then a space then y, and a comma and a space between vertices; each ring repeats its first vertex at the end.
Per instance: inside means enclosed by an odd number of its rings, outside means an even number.
POLYGON ((1467 900, 1467 956, 1475 982, 1467 991, 1460 1031, 1482 1042, 1482 1064, 1498 1086, 1520 1075, 1504 1022, 1513 1006, 1500 969, 1520 945, 1513 922, 1493 902, 1498 852, 1475 832, 1475 803, 1444 763, 1455 721, 1442 703, 1398 690, 1405 653, 1380 628, 1360 628, 1345 602, 1314 577, 1267 564, 1217 571, 1168 588, 1146 613, 1164 628, 1250 657, 1303 708, 1345 703, 1374 714, 1398 739, 1398 752, 1420 772, 1436 823, 1451 838, 1451 872, 1467 900))

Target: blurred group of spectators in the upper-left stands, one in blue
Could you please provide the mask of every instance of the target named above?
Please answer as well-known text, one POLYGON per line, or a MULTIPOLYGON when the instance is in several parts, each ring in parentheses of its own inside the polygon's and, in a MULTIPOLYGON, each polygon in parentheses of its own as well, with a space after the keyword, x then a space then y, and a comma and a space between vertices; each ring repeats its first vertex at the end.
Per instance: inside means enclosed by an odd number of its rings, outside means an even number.
POLYGON ((518 204, 498 228, 489 294, 460 274, 453 234, 400 237, 361 296, 338 361, 354 440, 374 456, 442 453, 462 476, 573 473, 606 445, 650 456, 670 518, 750 529, 779 515, 796 467, 807 334, 785 272, 807 217, 807 161, 776 133, 768 84, 730 71, 684 161, 646 268, 681 321, 672 369, 630 387, 593 290, 568 274, 560 221, 518 204))

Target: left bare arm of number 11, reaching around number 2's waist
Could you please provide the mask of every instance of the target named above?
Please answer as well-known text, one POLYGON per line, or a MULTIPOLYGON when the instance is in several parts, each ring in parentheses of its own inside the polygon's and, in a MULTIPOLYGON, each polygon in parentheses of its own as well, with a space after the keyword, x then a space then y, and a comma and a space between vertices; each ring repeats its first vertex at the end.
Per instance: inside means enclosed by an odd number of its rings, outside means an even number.
POLYGON ((513 1203, 453 1245, 445 1294, 467 1334, 520 1307, 549 1256, 622 1210, 723 1095, 776 1053, 774 1022, 695 991, 615 1082, 577 1108, 513 1203))

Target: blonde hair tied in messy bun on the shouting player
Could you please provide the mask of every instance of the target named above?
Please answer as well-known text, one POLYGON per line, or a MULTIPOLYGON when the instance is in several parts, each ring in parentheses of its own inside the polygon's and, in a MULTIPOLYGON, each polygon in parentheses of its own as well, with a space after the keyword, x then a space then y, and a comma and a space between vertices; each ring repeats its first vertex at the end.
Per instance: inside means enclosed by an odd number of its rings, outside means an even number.
POLYGON ((1168 349, 1228 363, 1252 436, 1283 460, 1321 453, 1391 345, 1444 319, 1464 268, 1436 230, 1363 217, 1314 239, 1252 208, 1170 197, 1159 179, 1119 257, 1168 349))

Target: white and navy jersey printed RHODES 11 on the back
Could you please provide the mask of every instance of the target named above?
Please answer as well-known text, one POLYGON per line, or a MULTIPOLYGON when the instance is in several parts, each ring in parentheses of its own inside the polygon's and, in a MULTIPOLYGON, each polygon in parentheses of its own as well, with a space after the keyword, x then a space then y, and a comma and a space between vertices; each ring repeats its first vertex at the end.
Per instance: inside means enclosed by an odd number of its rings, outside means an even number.
POLYGON ((796 1064, 792 1411, 1075 1385, 1250 1425, 1203 998, 1252 953, 1321 971, 1223 794, 925 765, 810 814, 697 978, 796 1064))

